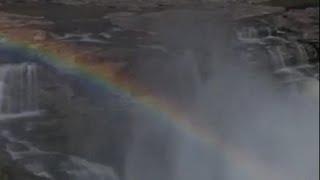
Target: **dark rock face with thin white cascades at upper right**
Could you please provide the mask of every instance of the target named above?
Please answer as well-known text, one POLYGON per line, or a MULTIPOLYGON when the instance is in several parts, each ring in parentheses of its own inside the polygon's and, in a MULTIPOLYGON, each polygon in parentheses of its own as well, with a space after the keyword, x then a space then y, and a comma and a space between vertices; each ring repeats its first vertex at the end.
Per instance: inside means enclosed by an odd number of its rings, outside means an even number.
POLYGON ((291 9, 242 19, 237 35, 246 44, 243 47, 247 46, 245 56, 254 62, 263 59, 255 54, 264 51, 271 57, 270 64, 277 77, 284 83, 299 82, 307 87, 302 91, 314 96, 318 83, 309 79, 319 79, 318 12, 319 8, 291 9))

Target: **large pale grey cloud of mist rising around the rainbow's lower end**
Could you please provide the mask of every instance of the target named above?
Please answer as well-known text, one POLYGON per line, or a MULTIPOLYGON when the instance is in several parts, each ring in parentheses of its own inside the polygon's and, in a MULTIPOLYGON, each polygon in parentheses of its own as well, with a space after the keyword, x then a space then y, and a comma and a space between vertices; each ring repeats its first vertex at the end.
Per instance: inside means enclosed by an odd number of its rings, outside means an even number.
MULTIPOLYGON (((141 63, 136 73, 156 92, 178 101, 189 117, 181 121, 192 121, 188 123, 201 127, 206 137, 184 129, 183 123, 170 120, 173 117, 133 111, 139 120, 128 148, 125 179, 318 179, 317 81, 279 83, 271 70, 253 67, 237 54, 234 26, 228 21, 218 18, 203 25, 195 23, 195 14, 189 16, 178 16, 179 25, 171 19, 170 31, 160 35, 178 49, 176 56, 141 63)), ((168 27, 162 23, 156 28, 168 27)), ((262 64, 271 61, 259 56, 262 64)))

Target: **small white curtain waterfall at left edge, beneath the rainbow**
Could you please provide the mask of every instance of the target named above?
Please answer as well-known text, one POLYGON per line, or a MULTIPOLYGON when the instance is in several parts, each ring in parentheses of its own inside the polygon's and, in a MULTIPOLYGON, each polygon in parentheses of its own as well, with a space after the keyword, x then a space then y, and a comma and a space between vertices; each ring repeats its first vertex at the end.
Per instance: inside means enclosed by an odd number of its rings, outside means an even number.
POLYGON ((37 69, 34 63, 0 65, 0 120, 39 112, 37 69))

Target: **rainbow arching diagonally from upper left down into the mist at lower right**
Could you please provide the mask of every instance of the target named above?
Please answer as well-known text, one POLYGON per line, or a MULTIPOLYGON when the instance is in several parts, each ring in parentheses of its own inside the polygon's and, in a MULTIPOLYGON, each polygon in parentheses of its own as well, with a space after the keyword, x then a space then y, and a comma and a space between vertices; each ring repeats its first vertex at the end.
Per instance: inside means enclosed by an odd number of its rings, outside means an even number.
POLYGON ((95 58, 94 55, 89 57, 81 55, 76 47, 54 40, 45 40, 39 43, 26 38, 19 39, 6 33, 0 33, 0 50, 1 47, 35 55, 39 57, 38 60, 41 63, 65 73, 77 75, 77 77, 90 81, 107 92, 121 94, 143 107, 145 111, 154 114, 155 117, 161 117, 155 119, 172 123, 202 143, 219 149, 225 154, 225 158, 230 164, 247 174, 248 177, 253 177, 256 180, 287 180, 288 176, 284 176, 286 174, 275 172, 274 169, 252 157, 250 153, 224 142, 205 127, 196 125, 195 121, 173 102, 151 94, 147 88, 133 83, 126 75, 120 77, 115 75, 116 68, 111 64, 90 63, 90 60, 95 58), (133 94, 138 94, 138 96, 133 94))

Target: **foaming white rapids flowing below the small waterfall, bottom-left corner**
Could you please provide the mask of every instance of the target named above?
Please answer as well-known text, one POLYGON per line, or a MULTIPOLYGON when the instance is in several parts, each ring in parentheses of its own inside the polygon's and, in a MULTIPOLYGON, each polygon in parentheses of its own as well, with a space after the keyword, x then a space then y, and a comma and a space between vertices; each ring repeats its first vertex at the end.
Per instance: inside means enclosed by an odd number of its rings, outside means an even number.
POLYGON ((11 158, 22 163, 24 167, 36 176, 48 179, 57 179, 57 174, 64 174, 70 180, 118 180, 111 167, 89 162, 83 158, 67 155, 59 152, 42 151, 32 143, 19 140, 9 131, 4 130, 1 136, 9 142, 6 151, 11 158), (15 146, 23 146, 23 149, 16 150, 15 146), (55 170, 50 169, 50 164, 56 162, 55 170))

